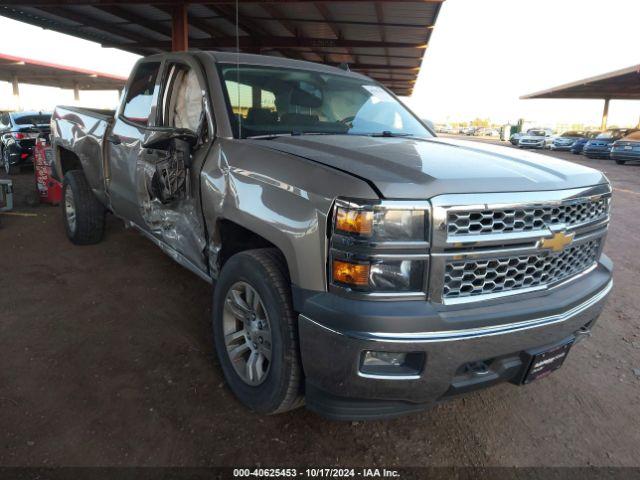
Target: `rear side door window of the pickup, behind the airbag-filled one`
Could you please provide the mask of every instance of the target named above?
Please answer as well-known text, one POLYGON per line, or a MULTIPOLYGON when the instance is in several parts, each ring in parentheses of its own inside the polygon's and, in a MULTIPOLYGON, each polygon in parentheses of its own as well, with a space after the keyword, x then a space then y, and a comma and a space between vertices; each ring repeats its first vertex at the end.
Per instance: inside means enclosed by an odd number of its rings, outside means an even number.
POLYGON ((158 87, 159 62, 143 63, 136 70, 124 105, 123 116, 140 125, 148 125, 158 87))

